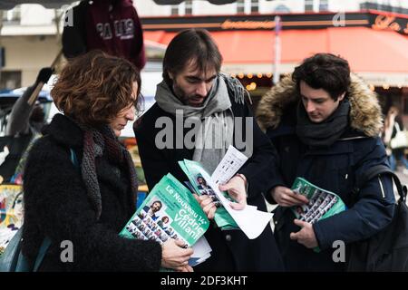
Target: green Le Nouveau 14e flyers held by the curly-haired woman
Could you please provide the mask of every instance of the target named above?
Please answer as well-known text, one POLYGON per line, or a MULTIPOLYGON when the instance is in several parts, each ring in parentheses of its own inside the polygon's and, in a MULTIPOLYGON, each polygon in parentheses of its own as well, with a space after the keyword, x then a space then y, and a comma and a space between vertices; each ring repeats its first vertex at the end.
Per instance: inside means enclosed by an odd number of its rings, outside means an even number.
POLYGON ((184 247, 197 247, 189 261, 195 266, 210 256, 211 248, 203 237, 208 228, 209 219, 197 200, 169 173, 151 190, 120 235, 160 244, 178 239, 184 247))

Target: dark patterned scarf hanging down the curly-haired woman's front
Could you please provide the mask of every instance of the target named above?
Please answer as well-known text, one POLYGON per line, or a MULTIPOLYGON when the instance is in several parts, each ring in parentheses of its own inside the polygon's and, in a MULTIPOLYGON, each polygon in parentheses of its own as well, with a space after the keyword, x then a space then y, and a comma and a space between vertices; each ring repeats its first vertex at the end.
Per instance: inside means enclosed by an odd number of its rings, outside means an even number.
POLYGON ((121 145, 109 126, 103 126, 97 131, 77 124, 83 130, 83 160, 81 163, 83 182, 92 206, 96 210, 96 219, 99 219, 102 213, 102 198, 95 167, 96 157, 104 155, 114 166, 127 171, 131 181, 132 201, 136 204, 138 181, 131 154, 121 145))

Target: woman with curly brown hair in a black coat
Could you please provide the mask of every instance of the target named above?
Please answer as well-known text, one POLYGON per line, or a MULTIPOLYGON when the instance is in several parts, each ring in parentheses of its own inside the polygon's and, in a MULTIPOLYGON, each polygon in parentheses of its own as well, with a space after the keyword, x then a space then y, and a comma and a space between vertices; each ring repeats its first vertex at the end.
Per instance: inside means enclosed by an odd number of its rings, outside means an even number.
POLYGON ((118 137, 138 111, 141 77, 128 61, 101 52, 79 56, 55 83, 63 112, 30 151, 24 171, 24 255, 33 259, 47 237, 40 271, 190 271, 191 249, 168 240, 118 234, 135 212, 136 172, 118 137), (73 162, 73 160, 77 160, 73 162), (61 256, 63 241, 73 255, 61 256))

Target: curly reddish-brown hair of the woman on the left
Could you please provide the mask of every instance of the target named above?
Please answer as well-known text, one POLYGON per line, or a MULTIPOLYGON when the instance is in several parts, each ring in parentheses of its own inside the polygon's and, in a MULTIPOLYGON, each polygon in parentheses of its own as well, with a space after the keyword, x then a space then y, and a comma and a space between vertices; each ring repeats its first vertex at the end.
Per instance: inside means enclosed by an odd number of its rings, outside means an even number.
POLYGON ((108 124, 132 102, 139 109, 141 75, 129 61, 92 51, 68 63, 54 83, 51 95, 58 110, 90 126, 108 124), (133 82, 138 83, 134 100, 133 82))

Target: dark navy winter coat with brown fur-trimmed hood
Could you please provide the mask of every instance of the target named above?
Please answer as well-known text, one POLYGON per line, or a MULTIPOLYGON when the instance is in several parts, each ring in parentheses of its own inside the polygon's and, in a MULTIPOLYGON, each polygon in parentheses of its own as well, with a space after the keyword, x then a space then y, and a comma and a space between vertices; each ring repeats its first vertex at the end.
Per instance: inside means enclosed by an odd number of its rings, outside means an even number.
MULTIPOLYGON (((364 83, 353 79, 348 92, 351 105, 350 126, 330 147, 310 148, 296 136, 296 105, 299 98, 296 85, 287 77, 268 92, 260 102, 257 120, 277 148, 280 157, 280 176, 271 179, 269 187, 290 188, 296 177, 335 192, 345 201, 348 210, 316 222, 320 253, 289 238, 300 230, 293 223, 295 216, 289 208, 278 207, 275 235, 289 271, 342 271, 345 263, 335 263, 332 254, 335 240, 345 245, 374 235, 393 217, 393 186, 389 177, 370 180, 356 199, 352 197, 355 181, 364 171, 376 164, 388 166, 382 140, 381 109, 376 96, 364 83), (355 202, 356 200, 356 202, 355 202)), ((275 203, 271 195, 267 200, 275 203)), ((346 247, 347 248, 347 247, 346 247)))

